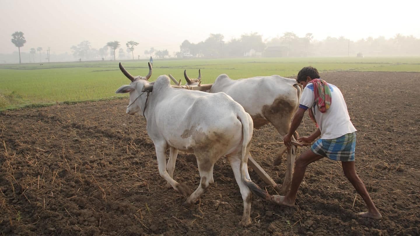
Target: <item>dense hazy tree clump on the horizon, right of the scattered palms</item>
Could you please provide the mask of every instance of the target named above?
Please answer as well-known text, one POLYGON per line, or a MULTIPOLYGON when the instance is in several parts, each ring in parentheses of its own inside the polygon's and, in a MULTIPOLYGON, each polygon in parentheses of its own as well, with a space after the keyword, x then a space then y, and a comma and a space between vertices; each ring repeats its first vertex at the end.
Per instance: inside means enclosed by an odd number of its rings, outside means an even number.
POLYGON ((196 57, 306 57, 306 56, 355 56, 362 53, 369 56, 420 55, 420 39, 396 34, 390 39, 380 36, 352 41, 344 36, 314 40, 312 33, 298 37, 293 32, 285 32, 281 37, 262 40, 257 33, 243 34, 228 42, 222 34, 210 34, 205 41, 196 44, 184 40, 179 45, 177 57, 191 54, 196 57))

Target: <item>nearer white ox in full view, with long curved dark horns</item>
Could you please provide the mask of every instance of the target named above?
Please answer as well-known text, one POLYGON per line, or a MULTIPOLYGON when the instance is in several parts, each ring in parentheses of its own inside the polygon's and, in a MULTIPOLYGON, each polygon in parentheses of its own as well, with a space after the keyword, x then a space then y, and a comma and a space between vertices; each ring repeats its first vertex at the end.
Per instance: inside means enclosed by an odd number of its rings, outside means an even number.
POLYGON ((159 174, 168 184, 188 197, 184 205, 194 204, 213 184, 213 166, 226 155, 234 171, 244 201, 241 226, 251 223, 251 191, 272 201, 271 196, 253 183, 248 174, 247 160, 252 138, 252 118, 237 102, 223 92, 209 94, 171 88, 168 76, 159 76, 152 85, 152 68, 146 77, 131 76, 120 63, 120 69, 130 80, 115 93, 130 93, 126 113, 144 115, 147 134, 155 145, 159 174), (150 94, 149 94, 150 93, 150 94), (182 122, 178 122, 182 121, 182 122), (166 149, 170 147, 168 171, 166 149), (197 157, 200 184, 191 194, 188 186, 173 179, 178 150, 194 152, 197 157))

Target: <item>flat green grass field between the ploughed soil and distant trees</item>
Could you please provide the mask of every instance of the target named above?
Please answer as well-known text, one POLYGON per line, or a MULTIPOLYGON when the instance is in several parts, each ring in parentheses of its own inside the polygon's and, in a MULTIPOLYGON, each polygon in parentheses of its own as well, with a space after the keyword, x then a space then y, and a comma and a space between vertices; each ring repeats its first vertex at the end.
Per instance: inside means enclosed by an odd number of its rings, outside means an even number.
MULTIPOLYGON (((115 90, 129 84, 117 61, 70 63, 29 63, 0 65, 0 110, 42 106, 55 102, 77 102, 116 97, 115 90)), ((147 60, 122 61, 134 76, 148 73, 147 60)), ((212 83, 226 73, 232 79, 278 74, 289 77, 304 66, 325 71, 417 71, 420 57, 393 58, 236 58, 236 59, 155 59, 151 81, 171 73, 184 80, 201 69, 203 83, 212 83)), ((124 95, 119 95, 124 96, 124 95)), ((118 96, 117 96, 118 97, 118 96)))

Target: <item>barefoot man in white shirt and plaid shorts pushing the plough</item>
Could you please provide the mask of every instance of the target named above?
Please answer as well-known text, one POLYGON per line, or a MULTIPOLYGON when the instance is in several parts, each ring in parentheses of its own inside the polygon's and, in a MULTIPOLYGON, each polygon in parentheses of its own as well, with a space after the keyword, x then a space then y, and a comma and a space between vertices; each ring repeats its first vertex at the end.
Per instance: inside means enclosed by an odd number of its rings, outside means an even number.
POLYGON ((302 182, 307 165, 328 157, 331 160, 341 161, 344 175, 365 201, 367 212, 360 212, 359 215, 381 219, 381 213, 376 209, 365 185, 354 169, 356 128, 350 121, 347 105, 340 89, 321 80, 317 69, 313 67, 304 67, 300 70, 297 82, 302 84, 304 89, 299 108, 291 121, 289 133, 283 137, 284 144, 290 147, 291 136, 299 127, 306 110, 309 110, 309 116, 315 122, 317 130, 310 136, 299 138, 298 141, 311 143, 318 136, 321 138, 296 160, 290 191, 286 196, 273 196, 273 200, 281 205, 294 206, 297 189, 302 182))

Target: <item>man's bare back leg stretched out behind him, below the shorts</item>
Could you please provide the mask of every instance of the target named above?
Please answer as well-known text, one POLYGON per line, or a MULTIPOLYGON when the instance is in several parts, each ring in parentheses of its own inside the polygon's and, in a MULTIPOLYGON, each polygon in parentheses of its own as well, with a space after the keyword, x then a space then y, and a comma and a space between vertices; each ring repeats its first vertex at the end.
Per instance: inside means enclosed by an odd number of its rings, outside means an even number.
POLYGON ((369 193, 366 190, 365 184, 359 178, 354 168, 354 161, 342 161, 341 166, 343 167, 344 175, 352 183, 354 189, 360 194, 367 206, 367 212, 360 212, 361 217, 372 218, 375 220, 382 219, 381 213, 376 209, 375 204, 373 204, 372 199, 369 196, 369 193))

